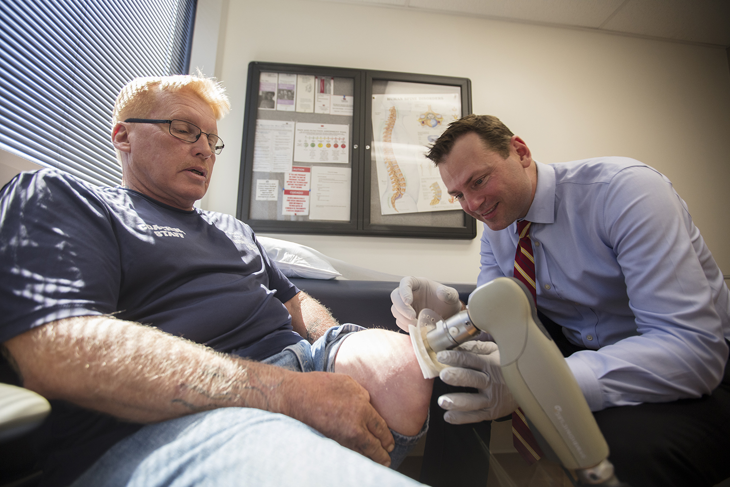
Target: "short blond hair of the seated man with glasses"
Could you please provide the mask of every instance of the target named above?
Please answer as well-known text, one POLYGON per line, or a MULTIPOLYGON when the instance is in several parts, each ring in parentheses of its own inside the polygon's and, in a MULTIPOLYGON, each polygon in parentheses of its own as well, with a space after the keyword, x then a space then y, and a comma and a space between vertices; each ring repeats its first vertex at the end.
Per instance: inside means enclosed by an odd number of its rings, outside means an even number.
POLYGON ((204 74, 175 74, 173 76, 137 77, 124 85, 117 96, 112 113, 112 127, 127 118, 144 118, 152 110, 160 93, 191 91, 213 110, 215 120, 231 110, 226 90, 215 78, 204 74))

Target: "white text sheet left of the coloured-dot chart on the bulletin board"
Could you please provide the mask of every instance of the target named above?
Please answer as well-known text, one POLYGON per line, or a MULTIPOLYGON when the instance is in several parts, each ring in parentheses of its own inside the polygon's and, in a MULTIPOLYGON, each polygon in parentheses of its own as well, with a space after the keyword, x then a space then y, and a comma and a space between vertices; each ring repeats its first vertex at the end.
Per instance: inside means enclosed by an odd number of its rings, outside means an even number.
POLYGON ((256 120, 253 147, 254 172, 291 171, 294 123, 282 120, 256 120))

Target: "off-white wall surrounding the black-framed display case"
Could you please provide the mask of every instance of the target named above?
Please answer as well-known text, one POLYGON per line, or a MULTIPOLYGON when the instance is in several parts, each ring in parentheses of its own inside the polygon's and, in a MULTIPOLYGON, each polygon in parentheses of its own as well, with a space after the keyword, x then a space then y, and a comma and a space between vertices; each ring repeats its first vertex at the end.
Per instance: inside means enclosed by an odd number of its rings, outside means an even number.
MULTIPOLYGON (((468 77, 473 111, 502 118, 539 161, 629 156, 664 172, 730 274, 725 50, 315 0, 224 0, 222 18, 215 74, 233 110, 204 207, 236 212, 250 61, 468 77)), ((478 272, 478 236, 271 236, 393 274, 474 282, 478 272)))

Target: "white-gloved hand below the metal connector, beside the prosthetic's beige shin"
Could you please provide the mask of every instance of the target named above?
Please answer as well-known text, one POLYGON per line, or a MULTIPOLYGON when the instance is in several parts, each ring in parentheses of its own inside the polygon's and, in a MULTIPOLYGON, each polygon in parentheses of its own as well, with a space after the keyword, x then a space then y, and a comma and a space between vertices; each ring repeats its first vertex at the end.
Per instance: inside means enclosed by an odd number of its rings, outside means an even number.
POLYGON ((447 423, 464 424, 502 418, 518 404, 504 384, 499 367, 499 348, 494 342, 464 342, 454 350, 437 353, 447 367, 439 374, 450 386, 477 388, 478 393, 454 392, 439 397, 447 423))

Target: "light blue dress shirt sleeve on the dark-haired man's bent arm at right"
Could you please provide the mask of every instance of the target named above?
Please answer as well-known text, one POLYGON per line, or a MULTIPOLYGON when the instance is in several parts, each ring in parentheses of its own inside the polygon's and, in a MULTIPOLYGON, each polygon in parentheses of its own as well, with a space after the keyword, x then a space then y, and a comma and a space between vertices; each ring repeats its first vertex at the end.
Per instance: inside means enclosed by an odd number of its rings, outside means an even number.
POLYGON ((641 166, 619 172, 603 197, 597 224, 621 266, 638 334, 566 358, 591 410, 709 394, 728 348, 703 269, 709 250, 685 203, 641 166))

